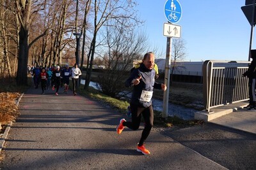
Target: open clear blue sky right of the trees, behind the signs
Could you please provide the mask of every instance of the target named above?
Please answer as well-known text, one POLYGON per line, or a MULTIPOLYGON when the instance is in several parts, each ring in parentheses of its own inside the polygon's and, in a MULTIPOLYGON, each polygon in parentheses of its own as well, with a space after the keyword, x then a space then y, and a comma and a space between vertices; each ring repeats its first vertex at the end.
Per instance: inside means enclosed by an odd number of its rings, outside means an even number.
MULTIPOLYGON (((171 1, 171 0, 168 0, 171 1)), ((138 16, 145 21, 150 45, 166 52, 163 25, 166 0, 137 0, 138 16)), ((241 6, 245 0, 179 0, 181 38, 186 42, 185 61, 248 60, 251 26, 241 6)), ((256 42, 252 43, 256 49, 256 42)), ((165 56, 163 56, 164 58, 165 56)))

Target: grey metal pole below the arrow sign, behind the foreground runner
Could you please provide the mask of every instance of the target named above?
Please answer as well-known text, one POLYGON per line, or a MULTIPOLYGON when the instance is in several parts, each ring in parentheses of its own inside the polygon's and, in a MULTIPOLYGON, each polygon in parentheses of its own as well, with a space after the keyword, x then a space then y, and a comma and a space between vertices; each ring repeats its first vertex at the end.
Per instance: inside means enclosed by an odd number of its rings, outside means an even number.
POLYGON ((171 60, 172 60, 172 38, 168 37, 167 45, 166 45, 166 60, 165 60, 165 73, 164 73, 164 84, 166 85, 167 89, 164 91, 163 115, 162 115, 163 118, 168 117, 171 60))

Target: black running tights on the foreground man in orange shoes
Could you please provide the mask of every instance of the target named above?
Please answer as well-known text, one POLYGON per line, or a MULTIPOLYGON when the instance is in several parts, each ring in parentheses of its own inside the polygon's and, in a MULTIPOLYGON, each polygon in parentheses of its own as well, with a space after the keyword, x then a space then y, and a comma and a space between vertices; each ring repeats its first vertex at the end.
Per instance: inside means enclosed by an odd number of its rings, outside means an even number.
POLYGON ((152 106, 148 108, 138 108, 131 104, 132 122, 124 122, 123 125, 129 129, 137 130, 140 127, 141 115, 144 118, 145 127, 142 131, 139 146, 143 145, 153 127, 154 112, 152 106))

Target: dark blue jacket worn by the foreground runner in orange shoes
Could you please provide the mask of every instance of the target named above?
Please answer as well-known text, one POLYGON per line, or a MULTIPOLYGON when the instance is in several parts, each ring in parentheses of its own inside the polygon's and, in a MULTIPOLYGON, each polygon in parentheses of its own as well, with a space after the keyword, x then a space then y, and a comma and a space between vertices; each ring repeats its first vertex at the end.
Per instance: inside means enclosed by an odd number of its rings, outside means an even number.
POLYGON ((150 102, 141 101, 140 97, 142 90, 152 92, 154 88, 161 89, 161 84, 155 82, 155 74, 156 71, 154 69, 147 69, 144 64, 141 64, 140 67, 132 71, 129 78, 125 81, 125 87, 131 87, 132 80, 134 80, 134 78, 141 76, 141 79, 140 83, 133 87, 131 104, 135 104, 143 108, 147 108, 152 104, 152 100, 150 100, 150 102))

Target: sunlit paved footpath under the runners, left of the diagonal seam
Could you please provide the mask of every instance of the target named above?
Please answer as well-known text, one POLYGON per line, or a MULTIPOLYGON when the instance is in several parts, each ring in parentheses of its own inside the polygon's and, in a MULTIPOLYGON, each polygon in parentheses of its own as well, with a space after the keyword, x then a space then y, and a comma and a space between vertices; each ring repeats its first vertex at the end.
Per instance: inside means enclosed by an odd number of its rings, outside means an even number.
POLYGON ((139 131, 116 134, 120 113, 83 96, 29 89, 2 150, 1 169, 225 169, 155 131, 136 152, 139 131))

